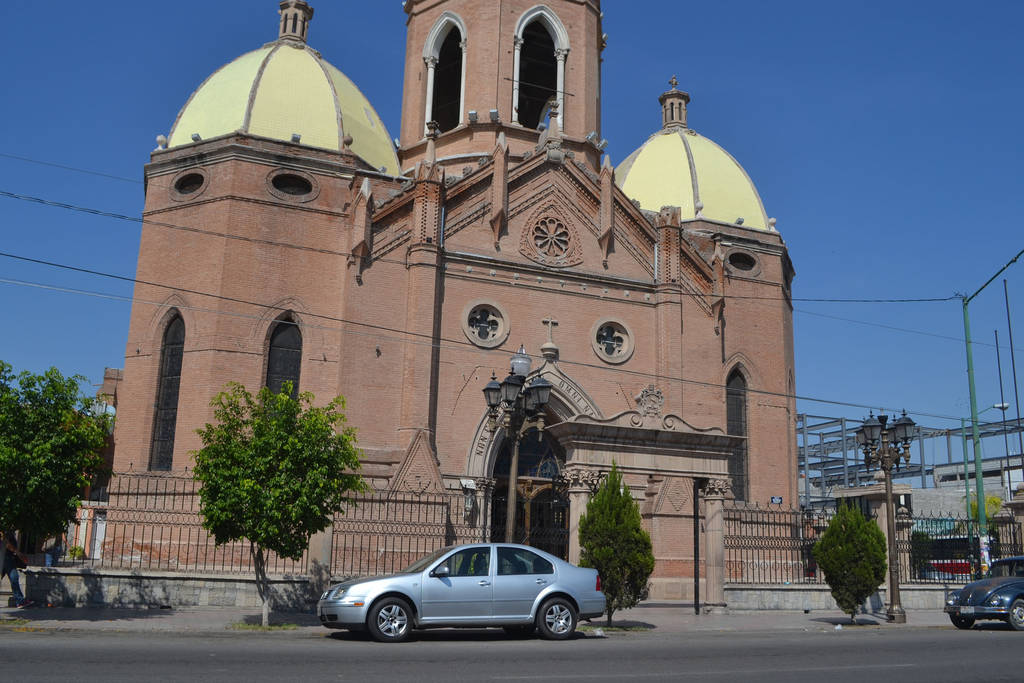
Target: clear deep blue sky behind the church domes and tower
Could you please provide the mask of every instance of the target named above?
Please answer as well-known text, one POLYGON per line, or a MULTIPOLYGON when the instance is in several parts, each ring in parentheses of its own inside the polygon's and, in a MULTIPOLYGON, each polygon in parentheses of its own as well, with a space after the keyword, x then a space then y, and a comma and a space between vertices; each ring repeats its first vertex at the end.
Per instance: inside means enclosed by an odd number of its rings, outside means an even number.
MULTIPOLYGON (((17 27, 0 48, 0 190, 139 216, 156 135, 206 76, 276 37, 276 4, 61 0, 0 10, 17 27)), ((397 135, 400 2, 314 7, 310 44, 397 135)), ((777 217, 798 299, 973 293, 1024 248, 1024 3, 606 0, 604 13, 612 162, 659 126, 657 95, 677 74, 693 98, 690 125, 744 166, 777 217)), ((139 229, 0 197, 5 253, 131 278, 139 229)), ((1004 276, 1024 348, 1024 259, 1004 276)), ((7 257, 0 279, 122 297, 0 283, 0 358, 93 383, 122 367, 130 284, 7 257)), ((905 407, 936 427, 969 413, 957 301, 795 307, 802 412, 860 418, 862 405, 905 407)), ((972 303, 971 319, 980 407, 999 400, 996 329, 1013 402, 1001 278, 972 303)))

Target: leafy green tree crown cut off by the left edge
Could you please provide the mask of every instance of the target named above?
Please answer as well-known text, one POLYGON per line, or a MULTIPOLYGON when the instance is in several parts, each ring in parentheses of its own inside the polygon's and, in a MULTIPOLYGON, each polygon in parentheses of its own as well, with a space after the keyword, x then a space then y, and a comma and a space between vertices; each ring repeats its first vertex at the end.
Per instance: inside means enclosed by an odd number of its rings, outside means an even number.
POLYGON ((56 368, 14 375, 0 360, 0 529, 63 532, 102 467, 113 418, 56 368))

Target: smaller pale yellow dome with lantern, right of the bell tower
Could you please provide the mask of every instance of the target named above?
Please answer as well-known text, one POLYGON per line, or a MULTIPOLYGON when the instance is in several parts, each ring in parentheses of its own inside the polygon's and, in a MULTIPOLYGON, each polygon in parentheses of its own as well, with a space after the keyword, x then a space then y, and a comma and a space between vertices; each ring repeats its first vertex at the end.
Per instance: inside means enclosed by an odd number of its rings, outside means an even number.
POLYGON ((728 152, 687 127, 690 97, 676 89, 675 78, 672 85, 660 97, 664 128, 620 164, 618 186, 648 211, 677 206, 684 219, 772 229, 746 171, 728 152))

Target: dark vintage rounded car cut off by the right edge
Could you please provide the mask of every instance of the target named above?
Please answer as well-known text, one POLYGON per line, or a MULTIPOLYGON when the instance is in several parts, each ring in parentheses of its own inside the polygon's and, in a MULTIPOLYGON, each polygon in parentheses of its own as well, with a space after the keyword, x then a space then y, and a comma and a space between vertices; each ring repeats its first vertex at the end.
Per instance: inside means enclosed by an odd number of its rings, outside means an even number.
POLYGON ((945 612, 957 629, 970 629, 980 618, 999 620, 1024 631, 1024 557, 996 560, 981 581, 952 591, 945 612))

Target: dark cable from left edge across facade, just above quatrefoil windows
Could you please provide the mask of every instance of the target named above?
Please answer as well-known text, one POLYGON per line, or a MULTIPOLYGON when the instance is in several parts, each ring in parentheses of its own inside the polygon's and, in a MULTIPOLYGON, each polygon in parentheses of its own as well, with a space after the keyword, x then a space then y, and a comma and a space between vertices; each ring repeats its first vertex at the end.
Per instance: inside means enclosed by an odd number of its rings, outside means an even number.
MULTIPOLYGON (((57 202, 54 200, 47 200, 39 197, 33 197, 31 195, 22 195, 18 193, 11 193, 4 189, 0 189, 0 197, 6 197, 8 199, 18 200, 22 202, 30 202, 33 204, 40 204, 43 206, 66 209, 68 211, 76 211, 80 213, 87 213, 94 216, 102 216, 105 218, 114 218, 117 220, 124 220, 133 223, 139 223, 144 225, 153 225, 156 227, 164 227, 174 230, 183 230, 186 232, 194 232, 198 234, 206 234, 221 240, 237 240, 240 242, 247 242, 251 244, 260 244, 271 247, 283 247, 286 249, 296 249, 299 251, 314 252, 318 254, 325 254, 328 256, 339 256, 348 257, 350 254, 346 252, 340 252, 332 249, 322 249, 317 247, 308 247, 305 245, 297 245, 289 242, 281 242, 278 240, 265 240, 259 238, 248 238, 239 234, 231 234, 227 232, 217 232, 215 230, 207 230, 199 227, 189 227, 184 225, 176 225, 174 223, 168 223, 165 221, 157 221, 151 218, 143 218, 140 216, 129 216, 126 214, 116 213, 113 211, 104 211, 101 209, 94 209, 90 207, 83 207, 75 204, 68 204, 65 202, 57 202)), ((472 256, 471 254, 469 256, 472 256)), ((396 259, 386 259, 386 258, 376 258, 372 259, 371 262, 381 262, 381 263, 397 263, 404 265, 404 261, 399 261, 396 259)), ((441 266, 436 266, 441 267, 441 266)), ((497 275, 496 275, 497 276, 497 275)), ((509 275, 502 274, 503 278, 512 280, 509 275)), ((739 294, 699 294, 694 292, 683 292, 684 296, 691 298, 703 298, 703 299, 733 299, 733 300, 748 300, 748 301, 798 301, 801 303, 942 303, 947 301, 952 301, 958 299, 956 295, 951 295, 947 297, 926 297, 926 298, 896 298, 896 299, 843 299, 843 298, 809 298, 809 297, 764 297, 764 296, 749 296, 739 294)))

